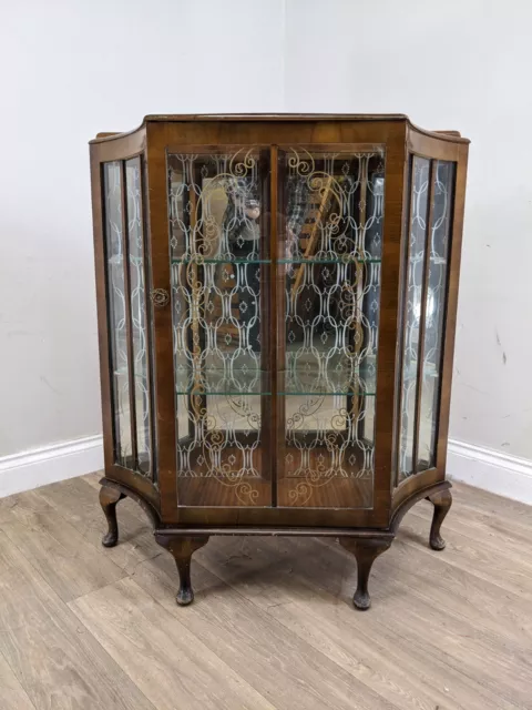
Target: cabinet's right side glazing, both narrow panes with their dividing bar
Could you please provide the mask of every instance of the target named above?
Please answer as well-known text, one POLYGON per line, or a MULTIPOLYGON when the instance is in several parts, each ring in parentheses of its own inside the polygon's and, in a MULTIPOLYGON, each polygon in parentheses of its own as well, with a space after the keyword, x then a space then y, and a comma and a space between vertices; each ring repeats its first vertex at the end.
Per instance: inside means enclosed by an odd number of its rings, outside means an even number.
POLYGON ((436 465, 454 168, 411 161, 398 483, 436 465))

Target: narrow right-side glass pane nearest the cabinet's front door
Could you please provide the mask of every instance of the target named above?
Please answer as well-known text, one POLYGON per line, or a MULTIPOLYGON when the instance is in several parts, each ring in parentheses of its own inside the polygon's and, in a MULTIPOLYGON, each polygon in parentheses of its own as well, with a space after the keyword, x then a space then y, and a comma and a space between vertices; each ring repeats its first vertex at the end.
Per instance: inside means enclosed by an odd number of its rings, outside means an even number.
POLYGON ((429 219, 430 161, 413 158, 411 170, 410 224, 406 277, 406 313, 403 324, 402 390, 400 412, 399 479, 413 471, 413 438, 416 435, 416 392, 418 383, 419 331, 424 277, 424 250, 429 219))

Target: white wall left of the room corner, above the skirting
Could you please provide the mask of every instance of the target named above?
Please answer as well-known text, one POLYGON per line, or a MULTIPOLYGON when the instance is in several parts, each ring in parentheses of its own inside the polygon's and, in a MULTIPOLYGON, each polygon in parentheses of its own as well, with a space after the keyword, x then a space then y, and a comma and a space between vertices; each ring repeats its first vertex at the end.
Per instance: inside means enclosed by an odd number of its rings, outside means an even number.
POLYGON ((282 108, 280 0, 0 2, 0 457, 101 432, 88 141, 282 108))

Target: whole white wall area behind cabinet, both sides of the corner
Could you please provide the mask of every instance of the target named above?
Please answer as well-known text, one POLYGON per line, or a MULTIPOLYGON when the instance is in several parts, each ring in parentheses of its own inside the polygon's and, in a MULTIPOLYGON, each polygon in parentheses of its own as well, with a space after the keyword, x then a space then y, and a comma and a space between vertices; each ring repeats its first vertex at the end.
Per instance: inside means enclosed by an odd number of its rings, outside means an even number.
POLYGON ((532 460, 529 2, 0 7, 0 457, 101 429, 88 140, 145 113, 346 111, 471 138, 451 436, 532 460))

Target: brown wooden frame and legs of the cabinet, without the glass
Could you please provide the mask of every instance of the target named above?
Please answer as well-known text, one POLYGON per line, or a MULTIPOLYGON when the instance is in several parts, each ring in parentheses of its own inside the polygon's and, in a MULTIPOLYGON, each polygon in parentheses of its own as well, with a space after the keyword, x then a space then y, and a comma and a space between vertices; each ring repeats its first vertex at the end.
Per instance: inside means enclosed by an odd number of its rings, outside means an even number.
MULTIPOLYGON (((466 171, 469 141, 456 132, 428 132, 413 126, 403 115, 181 115, 146 116, 142 125, 130 133, 102 133, 91 141, 92 202, 96 268, 98 317, 100 334, 100 365, 103 407, 105 478, 102 480, 102 505, 110 521, 105 544, 115 544, 117 530, 115 506, 123 495, 132 496, 147 510, 156 529, 157 540, 176 558, 181 574, 178 600, 192 600, 188 566, 190 555, 209 535, 222 534, 294 534, 339 537, 357 556, 364 572, 355 604, 369 606, 367 576, 371 562, 391 542, 405 511, 422 497, 434 503, 434 524, 431 544, 441 547, 439 526, 450 506, 450 484, 446 481, 446 457, 452 377, 458 281, 460 271, 461 234, 466 192, 466 171), (172 313, 170 307, 147 304, 150 312, 150 369, 152 376, 153 437, 156 465, 153 475, 145 476, 115 463, 113 435, 113 403, 110 369, 110 323, 105 275, 105 227, 103 165, 112 161, 141 159, 141 203, 146 252, 146 293, 171 291, 168 257, 168 173, 167 155, 174 152, 215 153, 231 146, 266 146, 269 150, 269 211, 263 219, 269 232, 273 260, 272 277, 263 276, 263 298, 267 298, 263 331, 272 328, 267 348, 270 367, 272 405, 263 406, 263 446, 274 450, 275 442, 284 436, 276 406, 277 377, 282 368, 277 347, 280 335, 279 312, 282 277, 275 270, 279 237, 279 150, 304 146, 313 151, 349 151, 364 145, 383 146, 385 203, 381 255, 379 344, 377 359, 375 467, 371 508, 279 507, 277 505, 277 458, 270 457, 272 506, 222 507, 180 505, 176 456, 176 412, 174 402, 174 355, 172 313), (444 298, 444 331, 442 367, 439 381, 440 414, 436 466, 409 476, 396 486, 398 475, 398 414, 401 395, 401 342, 406 304, 406 271, 409 242, 410 165, 413 155, 454 163, 452 230, 444 298)), ((125 169, 122 165, 122 174, 125 169)), ((431 173, 431 174, 432 174, 431 173)), ((432 182, 431 182, 432 184, 432 182)), ((125 204, 126 199, 123 199, 125 204)), ((430 203, 430 196, 429 196, 430 203)), ((123 207, 123 239, 126 242, 126 209, 123 207)), ((428 248, 426 250, 428 254, 428 248)), ((127 248, 125 244, 125 257, 127 248)), ((127 283, 127 268, 125 270, 127 283)), ((428 268, 426 268, 428 278, 428 268)), ((427 286, 423 293, 427 295, 427 286)), ((155 296, 152 295, 152 298, 155 296)), ((424 308, 424 302, 422 305, 424 308)), ((127 314, 126 314, 127 315, 127 314)), ((421 336, 423 334, 421 312, 421 336)), ((131 316, 127 315, 129 322, 131 316)), ((422 358, 419 367, 422 366, 422 358)), ((131 375, 130 375, 131 376, 131 375)), ((418 378, 418 389, 422 382, 418 378)), ((419 407, 416 414, 415 452, 419 437, 419 407)))

